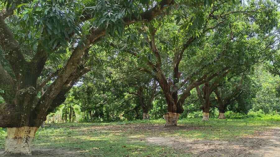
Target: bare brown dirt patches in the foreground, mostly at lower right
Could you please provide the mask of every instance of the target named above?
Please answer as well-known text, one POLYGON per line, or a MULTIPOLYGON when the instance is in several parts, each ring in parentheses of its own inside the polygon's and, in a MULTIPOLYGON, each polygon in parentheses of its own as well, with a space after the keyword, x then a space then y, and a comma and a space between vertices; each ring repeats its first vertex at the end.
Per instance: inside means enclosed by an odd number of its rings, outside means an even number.
MULTIPOLYGON (((162 128, 152 128, 153 131, 162 128)), ((166 128, 168 130, 168 128, 166 128)), ((148 144, 169 146, 182 153, 199 157, 280 157, 280 128, 256 131, 254 135, 235 138, 232 141, 191 140, 183 137, 147 137, 148 144)), ((3 150, 0 151, 0 156, 3 150)), ((32 156, 38 157, 76 157, 78 151, 61 149, 32 149, 32 156)))

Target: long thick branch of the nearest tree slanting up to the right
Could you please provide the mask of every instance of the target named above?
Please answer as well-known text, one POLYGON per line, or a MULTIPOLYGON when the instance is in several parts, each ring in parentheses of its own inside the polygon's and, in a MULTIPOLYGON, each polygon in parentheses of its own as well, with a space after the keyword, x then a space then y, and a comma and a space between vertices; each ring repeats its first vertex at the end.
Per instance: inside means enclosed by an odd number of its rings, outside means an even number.
MULTIPOLYGON (((150 21, 154 19, 157 15, 159 15, 161 11, 163 11, 173 3, 173 0, 163 0, 151 10, 145 11, 142 14, 140 14, 141 19, 137 19, 135 18, 135 16, 132 16, 134 18, 124 18, 124 25, 130 25, 135 22, 138 22, 139 20, 150 21)), ((41 97, 40 100, 51 101, 45 102, 44 107, 41 107, 40 110, 36 111, 37 115, 44 115, 44 113, 46 113, 46 111, 52 104, 52 100, 54 100, 56 96, 60 93, 68 78, 72 74, 75 74, 75 71, 77 71, 83 56, 86 55, 85 52, 90 49, 92 44, 96 43, 101 37, 106 35, 106 30, 103 28, 92 27, 89 32, 90 34, 88 34, 84 40, 81 40, 79 42, 77 47, 72 52, 67 64, 63 67, 63 70, 59 72, 56 80, 48 87, 47 91, 41 97)))

